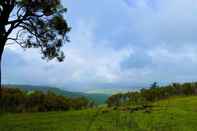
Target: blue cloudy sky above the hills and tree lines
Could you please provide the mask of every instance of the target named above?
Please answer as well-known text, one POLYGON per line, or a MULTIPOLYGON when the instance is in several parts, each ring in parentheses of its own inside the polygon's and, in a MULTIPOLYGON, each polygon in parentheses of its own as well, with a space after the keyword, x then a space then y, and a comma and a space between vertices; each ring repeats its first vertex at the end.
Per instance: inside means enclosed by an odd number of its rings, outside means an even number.
POLYGON ((62 0, 72 27, 66 59, 6 46, 3 83, 134 90, 197 80, 196 0, 62 0))

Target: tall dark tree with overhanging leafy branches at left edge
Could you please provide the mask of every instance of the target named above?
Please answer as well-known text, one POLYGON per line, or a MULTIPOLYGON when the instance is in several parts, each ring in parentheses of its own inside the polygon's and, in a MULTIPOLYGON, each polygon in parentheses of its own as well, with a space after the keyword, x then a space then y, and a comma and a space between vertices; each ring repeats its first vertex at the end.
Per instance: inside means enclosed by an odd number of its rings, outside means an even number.
POLYGON ((70 31, 66 10, 60 0, 0 0, 0 62, 7 44, 38 48, 43 59, 63 61, 70 31))

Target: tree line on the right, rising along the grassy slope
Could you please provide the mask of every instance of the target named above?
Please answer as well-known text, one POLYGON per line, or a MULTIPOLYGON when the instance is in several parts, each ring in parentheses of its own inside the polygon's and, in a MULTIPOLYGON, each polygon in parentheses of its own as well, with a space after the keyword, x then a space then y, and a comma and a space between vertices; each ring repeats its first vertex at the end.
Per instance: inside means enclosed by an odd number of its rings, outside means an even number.
POLYGON ((148 89, 112 95, 107 100, 107 105, 143 105, 173 96, 197 95, 197 82, 193 83, 172 83, 167 86, 158 86, 153 83, 148 89))

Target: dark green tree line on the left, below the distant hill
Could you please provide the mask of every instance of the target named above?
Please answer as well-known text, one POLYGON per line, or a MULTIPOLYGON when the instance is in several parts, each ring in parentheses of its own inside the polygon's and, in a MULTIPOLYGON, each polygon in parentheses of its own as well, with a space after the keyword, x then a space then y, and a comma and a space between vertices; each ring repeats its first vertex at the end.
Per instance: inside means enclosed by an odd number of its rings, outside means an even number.
POLYGON ((85 97, 69 98, 48 91, 22 91, 17 88, 2 88, 0 112, 48 112, 80 110, 93 107, 94 102, 85 97))

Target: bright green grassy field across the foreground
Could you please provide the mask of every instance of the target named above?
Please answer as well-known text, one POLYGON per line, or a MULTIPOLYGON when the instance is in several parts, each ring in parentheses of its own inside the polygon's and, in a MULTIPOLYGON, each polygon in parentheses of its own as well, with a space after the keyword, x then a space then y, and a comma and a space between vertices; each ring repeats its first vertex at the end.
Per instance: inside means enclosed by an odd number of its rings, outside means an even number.
POLYGON ((0 131, 197 131, 197 97, 174 97, 132 113, 101 108, 1 114, 0 131))

